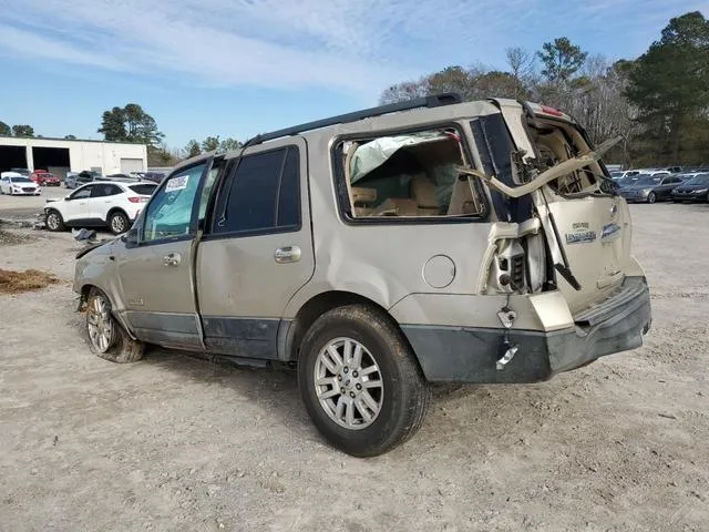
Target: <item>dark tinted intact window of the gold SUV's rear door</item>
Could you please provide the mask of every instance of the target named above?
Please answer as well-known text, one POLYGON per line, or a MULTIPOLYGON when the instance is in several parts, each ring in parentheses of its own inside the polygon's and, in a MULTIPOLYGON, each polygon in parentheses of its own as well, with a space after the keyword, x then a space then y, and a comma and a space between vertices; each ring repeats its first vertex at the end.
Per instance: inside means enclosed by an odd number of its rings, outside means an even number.
POLYGON ((297 231, 300 226, 299 154, 295 146, 237 162, 219 194, 213 233, 297 231))

